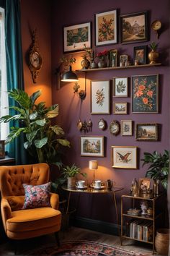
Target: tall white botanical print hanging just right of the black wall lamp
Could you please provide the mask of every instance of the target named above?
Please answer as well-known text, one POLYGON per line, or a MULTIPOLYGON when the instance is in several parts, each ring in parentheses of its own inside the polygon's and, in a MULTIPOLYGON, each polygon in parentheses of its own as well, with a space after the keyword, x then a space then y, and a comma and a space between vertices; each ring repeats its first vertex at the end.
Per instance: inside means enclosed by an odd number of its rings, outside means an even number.
POLYGON ((91 114, 110 113, 109 84, 109 80, 91 80, 91 114))

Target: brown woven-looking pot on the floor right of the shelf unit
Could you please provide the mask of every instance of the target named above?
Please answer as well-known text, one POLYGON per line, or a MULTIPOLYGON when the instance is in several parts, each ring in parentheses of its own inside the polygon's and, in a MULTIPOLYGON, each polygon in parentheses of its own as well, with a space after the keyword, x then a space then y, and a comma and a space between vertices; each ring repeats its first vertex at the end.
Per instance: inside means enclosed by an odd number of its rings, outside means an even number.
POLYGON ((158 255, 168 255, 169 253, 170 229, 158 229, 156 231, 155 247, 158 255))

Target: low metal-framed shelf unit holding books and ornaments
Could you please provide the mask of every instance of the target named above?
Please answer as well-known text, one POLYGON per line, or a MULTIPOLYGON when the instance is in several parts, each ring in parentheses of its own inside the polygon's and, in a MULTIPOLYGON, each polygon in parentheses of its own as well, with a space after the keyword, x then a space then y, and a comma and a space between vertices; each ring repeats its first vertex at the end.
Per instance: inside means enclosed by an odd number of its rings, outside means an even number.
POLYGON ((144 198, 122 195, 121 197, 121 244, 122 239, 132 239, 152 244, 154 253, 156 220, 164 210, 160 208, 163 194, 144 198), (130 205, 130 208, 128 208, 130 205))

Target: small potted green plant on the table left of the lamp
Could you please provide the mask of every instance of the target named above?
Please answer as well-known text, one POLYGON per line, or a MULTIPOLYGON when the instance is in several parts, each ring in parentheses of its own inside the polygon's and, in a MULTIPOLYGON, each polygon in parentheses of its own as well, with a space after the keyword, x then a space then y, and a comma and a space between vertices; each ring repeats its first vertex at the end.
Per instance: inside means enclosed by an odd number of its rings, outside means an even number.
POLYGON ((77 167, 75 163, 72 166, 63 167, 63 176, 67 178, 68 187, 76 186, 76 175, 81 174, 86 177, 86 173, 81 173, 81 168, 77 167))

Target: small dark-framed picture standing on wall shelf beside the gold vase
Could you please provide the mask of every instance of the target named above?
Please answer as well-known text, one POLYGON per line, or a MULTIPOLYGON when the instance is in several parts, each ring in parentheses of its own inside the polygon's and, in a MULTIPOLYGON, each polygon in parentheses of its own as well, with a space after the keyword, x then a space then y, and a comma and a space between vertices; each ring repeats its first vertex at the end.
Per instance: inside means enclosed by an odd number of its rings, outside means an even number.
POLYGON ((133 61, 138 61, 138 64, 146 64, 147 61, 147 46, 134 47, 133 61))

